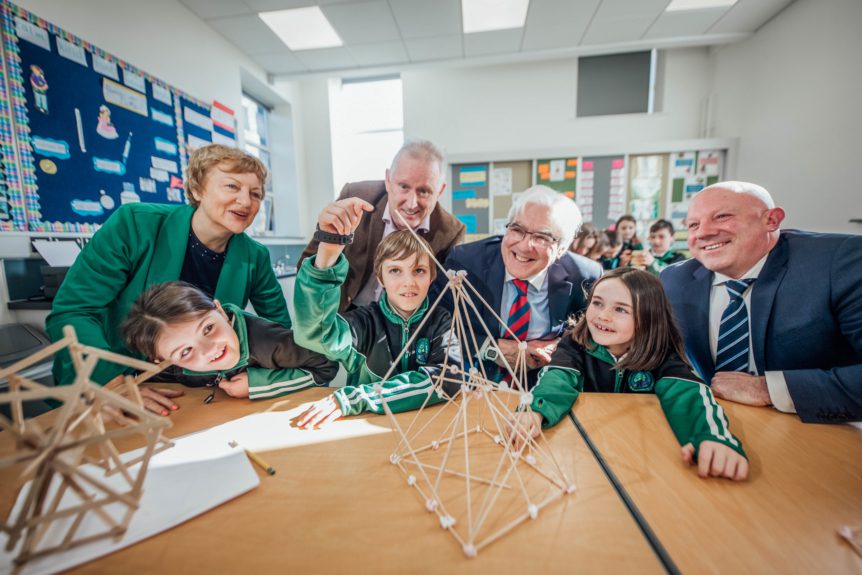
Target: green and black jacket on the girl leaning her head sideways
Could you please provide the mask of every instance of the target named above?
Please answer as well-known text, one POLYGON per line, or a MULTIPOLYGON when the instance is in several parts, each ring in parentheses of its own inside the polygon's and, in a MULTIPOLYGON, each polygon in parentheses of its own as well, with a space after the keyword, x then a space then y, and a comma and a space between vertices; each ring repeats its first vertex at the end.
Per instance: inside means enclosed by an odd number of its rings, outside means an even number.
POLYGON ((230 379, 245 371, 251 399, 280 397, 306 387, 326 385, 338 373, 338 365, 299 347, 292 332, 284 326, 246 313, 233 304, 225 304, 224 310, 232 318, 239 339, 239 361, 222 371, 183 370, 184 373, 230 379))

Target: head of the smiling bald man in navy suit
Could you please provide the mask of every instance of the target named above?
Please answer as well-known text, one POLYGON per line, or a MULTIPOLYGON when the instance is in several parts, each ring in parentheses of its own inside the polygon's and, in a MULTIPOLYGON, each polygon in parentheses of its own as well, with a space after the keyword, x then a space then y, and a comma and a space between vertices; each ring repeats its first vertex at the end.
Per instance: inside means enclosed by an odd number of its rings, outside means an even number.
POLYGON ((713 184, 689 205, 688 247, 707 269, 740 278, 778 243, 783 219, 784 210, 763 187, 713 184))

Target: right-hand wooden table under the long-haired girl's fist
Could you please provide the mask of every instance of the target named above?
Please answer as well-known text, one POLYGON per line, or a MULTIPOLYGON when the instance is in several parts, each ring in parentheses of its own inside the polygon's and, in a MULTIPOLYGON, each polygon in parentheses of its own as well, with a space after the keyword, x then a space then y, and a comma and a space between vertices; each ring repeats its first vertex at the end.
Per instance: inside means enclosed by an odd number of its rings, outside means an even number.
POLYGON ((721 405, 742 483, 682 463, 655 395, 584 393, 573 413, 682 573, 862 573, 836 534, 862 523, 862 430, 721 405))

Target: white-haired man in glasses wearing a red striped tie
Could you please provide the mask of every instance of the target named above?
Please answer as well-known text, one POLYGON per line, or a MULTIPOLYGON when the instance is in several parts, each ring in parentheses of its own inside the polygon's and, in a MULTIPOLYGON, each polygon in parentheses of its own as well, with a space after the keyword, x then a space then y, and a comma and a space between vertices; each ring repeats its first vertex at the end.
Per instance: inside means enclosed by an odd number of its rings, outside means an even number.
MULTIPOLYGON (((533 186, 513 196, 503 236, 462 244, 449 252, 444 267, 466 270, 467 280, 493 310, 476 302, 496 342, 487 338, 478 317, 470 312, 479 348, 476 359, 483 362, 489 377, 507 379, 500 369, 504 361, 499 352, 514 367, 518 346, 526 342, 527 383, 534 384, 539 368, 550 361, 566 319, 584 309, 584 287, 598 274, 589 265, 563 257, 581 222, 572 200, 547 186, 533 186)), ((437 290, 443 289, 446 279, 438 274, 437 290)), ((453 309, 449 292, 443 305, 453 309)), ((472 353, 475 347, 467 351, 472 353)))

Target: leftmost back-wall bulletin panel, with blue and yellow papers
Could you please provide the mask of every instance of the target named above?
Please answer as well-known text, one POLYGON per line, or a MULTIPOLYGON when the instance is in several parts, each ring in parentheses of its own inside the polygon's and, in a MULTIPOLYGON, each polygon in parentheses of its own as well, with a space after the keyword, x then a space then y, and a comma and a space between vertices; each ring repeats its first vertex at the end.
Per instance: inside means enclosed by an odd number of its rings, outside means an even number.
POLYGON ((452 215, 467 228, 465 242, 490 234, 489 168, 487 163, 452 166, 452 215))

